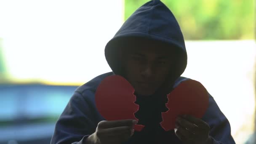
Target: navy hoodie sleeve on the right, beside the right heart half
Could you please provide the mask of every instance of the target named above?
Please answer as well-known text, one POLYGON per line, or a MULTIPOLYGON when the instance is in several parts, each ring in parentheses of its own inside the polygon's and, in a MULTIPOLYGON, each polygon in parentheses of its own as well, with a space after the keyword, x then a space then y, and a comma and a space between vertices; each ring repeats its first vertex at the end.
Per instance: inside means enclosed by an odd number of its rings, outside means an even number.
POLYGON ((216 101, 209 94, 209 107, 203 120, 211 127, 210 136, 213 144, 235 144, 227 117, 221 112, 216 101))

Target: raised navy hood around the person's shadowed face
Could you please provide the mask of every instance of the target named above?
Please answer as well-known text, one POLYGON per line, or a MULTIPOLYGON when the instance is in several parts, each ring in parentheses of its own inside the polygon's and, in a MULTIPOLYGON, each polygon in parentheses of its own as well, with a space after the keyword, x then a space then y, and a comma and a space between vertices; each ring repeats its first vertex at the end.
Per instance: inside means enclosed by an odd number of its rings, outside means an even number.
POLYGON ((170 75, 156 92, 168 94, 173 89, 174 81, 186 69, 187 52, 176 18, 160 0, 145 3, 124 22, 105 47, 106 60, 116 75, 123 75, 120 56, 122 49, 150 43, 175 51, 176 65, 170 69, 170 75))

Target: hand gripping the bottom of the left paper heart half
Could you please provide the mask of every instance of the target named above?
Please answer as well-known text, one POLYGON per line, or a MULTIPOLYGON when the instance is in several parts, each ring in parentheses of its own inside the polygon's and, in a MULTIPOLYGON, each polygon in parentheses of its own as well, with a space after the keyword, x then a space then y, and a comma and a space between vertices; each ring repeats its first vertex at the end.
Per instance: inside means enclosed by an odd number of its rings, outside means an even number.
POLYGON ((101 121, 87 138, 89 144, 122 144, 133 135, 137 120, 101 121))

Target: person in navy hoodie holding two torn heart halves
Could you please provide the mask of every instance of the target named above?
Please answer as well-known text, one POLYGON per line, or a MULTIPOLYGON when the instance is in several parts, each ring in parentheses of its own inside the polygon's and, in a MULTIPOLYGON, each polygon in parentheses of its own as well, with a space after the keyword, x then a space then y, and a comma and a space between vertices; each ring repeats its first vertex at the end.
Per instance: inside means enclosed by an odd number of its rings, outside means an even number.
POLYGON ((184 38, 173 13, 151 0, 137 9, 107 43, 105 56, 112 72, 76 89, 56 123, 51 144, 235 144, 227 118, 209 94, 202 119, 177 118, 176 129, 164 131, 161 112, 167 94, 188 78, 184 38), (106 121, 95 105, 95 91, 105 77, 121 75, 135 89, 136 120, 106 121), (142 131, 133 130, 138 123, 142 131))

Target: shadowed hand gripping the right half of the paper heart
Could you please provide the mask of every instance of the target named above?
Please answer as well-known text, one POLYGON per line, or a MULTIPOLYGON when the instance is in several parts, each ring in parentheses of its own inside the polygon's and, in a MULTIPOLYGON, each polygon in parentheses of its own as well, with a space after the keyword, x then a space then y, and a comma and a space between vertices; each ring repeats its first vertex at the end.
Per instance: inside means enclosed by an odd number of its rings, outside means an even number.
POLYGON ((175 127, 176 136, 184 144, 212 144, 210 126, 199 118, 182 115, 176 119, 175 127))

